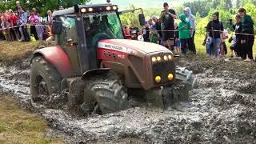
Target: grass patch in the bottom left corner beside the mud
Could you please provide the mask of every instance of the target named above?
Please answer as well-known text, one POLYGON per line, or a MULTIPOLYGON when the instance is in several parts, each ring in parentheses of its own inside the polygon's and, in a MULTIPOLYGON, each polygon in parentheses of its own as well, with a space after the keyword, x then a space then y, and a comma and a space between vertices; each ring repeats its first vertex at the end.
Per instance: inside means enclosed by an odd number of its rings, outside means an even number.
POLYGON ((64 143, 46 136, 47 122, 14 102, 10 95, 0 95, 0 143, 64 143))

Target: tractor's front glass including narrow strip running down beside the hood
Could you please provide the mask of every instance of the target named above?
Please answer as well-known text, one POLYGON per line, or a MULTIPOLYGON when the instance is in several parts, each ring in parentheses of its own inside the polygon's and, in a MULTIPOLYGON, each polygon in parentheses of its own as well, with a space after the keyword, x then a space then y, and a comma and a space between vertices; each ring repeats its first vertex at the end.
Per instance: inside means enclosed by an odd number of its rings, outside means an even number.
POLYGON ((98 68, 98 42, 103 39, 123 39, 122 26, 116 12, 87 14, 84 16, 86 45, 89 50, 90 69, 98 68))

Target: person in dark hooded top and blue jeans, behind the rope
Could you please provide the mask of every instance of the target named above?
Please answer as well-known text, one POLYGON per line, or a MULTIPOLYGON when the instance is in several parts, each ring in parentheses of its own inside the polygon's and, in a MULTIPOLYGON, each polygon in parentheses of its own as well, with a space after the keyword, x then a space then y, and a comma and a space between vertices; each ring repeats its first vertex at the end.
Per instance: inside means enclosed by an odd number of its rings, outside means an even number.
POLYGON ((209 55, 218 57, 218 47, 222 42, 222 31, 224 30, 222 22, 218 19, 219 13, 212 14, 212 20, 206 26, 209 42, 206 45, 206 51, 209 55), (214 54, 212 54, 211 45, 214 44, 214 54))

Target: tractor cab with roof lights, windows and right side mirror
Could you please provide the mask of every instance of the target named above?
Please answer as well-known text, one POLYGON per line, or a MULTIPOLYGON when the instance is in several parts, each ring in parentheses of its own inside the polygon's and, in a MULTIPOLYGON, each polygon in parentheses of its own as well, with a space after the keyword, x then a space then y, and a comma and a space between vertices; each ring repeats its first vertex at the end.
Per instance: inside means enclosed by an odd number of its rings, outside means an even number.
MULTIPOLYGON (((128 12, 134 10, 118 12, 118 6, 110 3, 76 5, 54 12, 52 32, 58 46, 69 54, 76 75, 98 68, 99 41, 125 38, 119 15, 128 12)), ((143 12, 139 19, 141 23, 145 22, 143 12)))

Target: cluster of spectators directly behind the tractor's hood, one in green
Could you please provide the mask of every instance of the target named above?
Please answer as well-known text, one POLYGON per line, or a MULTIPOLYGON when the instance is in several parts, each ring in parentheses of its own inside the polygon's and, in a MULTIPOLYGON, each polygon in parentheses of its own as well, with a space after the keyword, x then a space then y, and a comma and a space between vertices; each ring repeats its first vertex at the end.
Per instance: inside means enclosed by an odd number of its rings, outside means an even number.
POLYGON ((194 15, 189 7, 183 10, 183 14, 176 16, 176 12, 165 2, 160 16, 153 15, 141 30, 135 26, 135 22, 131 22, 130 28, 123 26, 123 30, 126 38, 157 43, 176 53, 187 54, 191 51, 196 54, 194 15), (175 23, 175 19, 180 22, 175 23))

